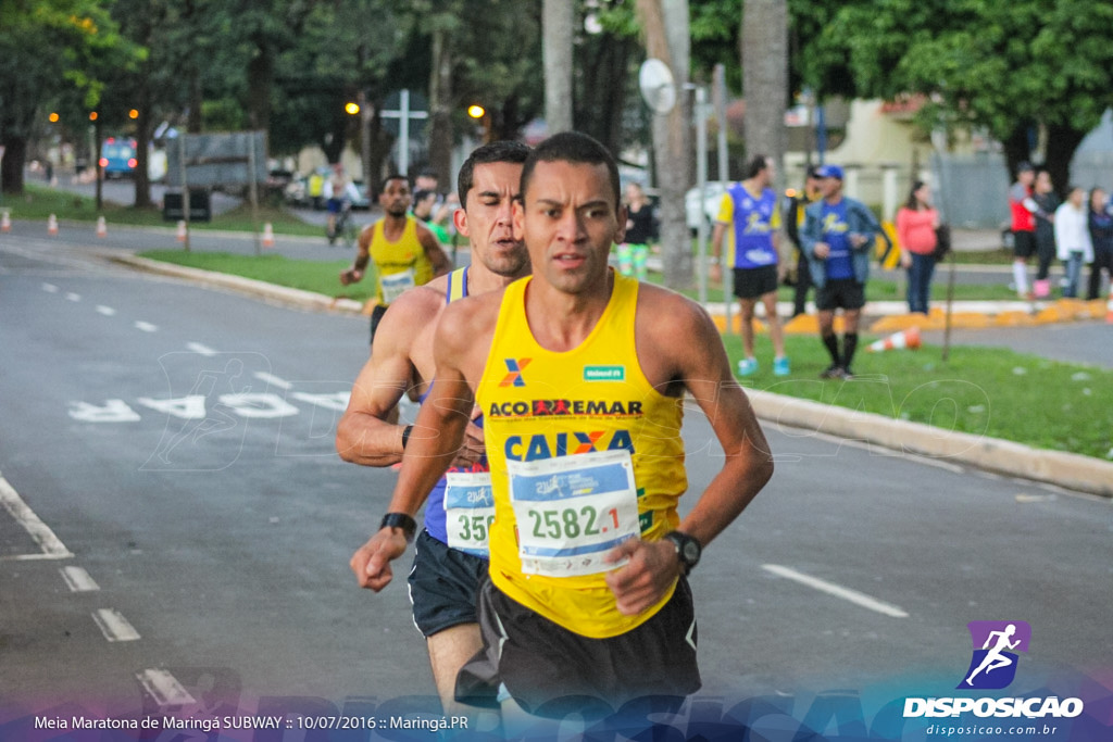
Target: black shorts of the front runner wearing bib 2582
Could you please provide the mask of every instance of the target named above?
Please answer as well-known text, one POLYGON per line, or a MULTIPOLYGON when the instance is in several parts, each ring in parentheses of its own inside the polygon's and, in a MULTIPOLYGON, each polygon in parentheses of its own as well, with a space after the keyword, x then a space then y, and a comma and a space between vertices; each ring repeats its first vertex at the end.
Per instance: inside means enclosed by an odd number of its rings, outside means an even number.
POLYGON ((699 690, 696 613, 683 577, 653 617, 611 639, 571 632, 508 597, 490 578, 480 587, 483 650, 456 677, 456 699, 492 705, 503 686, 526 713, 562 718, 652 698, 679 709, 699 690))

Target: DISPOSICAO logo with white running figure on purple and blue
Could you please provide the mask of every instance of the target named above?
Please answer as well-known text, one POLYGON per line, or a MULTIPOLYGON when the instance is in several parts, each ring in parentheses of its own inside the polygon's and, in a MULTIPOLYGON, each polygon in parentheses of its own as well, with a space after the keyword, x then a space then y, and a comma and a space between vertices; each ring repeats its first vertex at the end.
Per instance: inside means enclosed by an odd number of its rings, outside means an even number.
MULTIPOLYGON (((1032 640, 1032 626, 1024 621, 972 621, 973 653, 969 667, 957 690, 1001 690, 1016 677, 1020 660, 1017 652, 1027 652, 1032 640)), ((973 713, 975 716, 1038 719, 1073 718, 1081 714, 1080 699, 1050 698, 929 698, 905 699, 904 716, 958 716, 973 713)))

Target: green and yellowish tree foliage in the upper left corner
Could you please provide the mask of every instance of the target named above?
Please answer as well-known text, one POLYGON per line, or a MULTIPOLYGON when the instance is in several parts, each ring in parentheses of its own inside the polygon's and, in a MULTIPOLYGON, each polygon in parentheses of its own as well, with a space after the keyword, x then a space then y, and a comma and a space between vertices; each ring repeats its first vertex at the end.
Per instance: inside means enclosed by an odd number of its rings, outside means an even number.
POLYGON ((48 103, 78 93, 89 109, 102 90, 91 60, 127 63, 131 50, 117 34, 107 3, 41 0, 0 3, 0 191, 23 191, 28 145, 48 103))

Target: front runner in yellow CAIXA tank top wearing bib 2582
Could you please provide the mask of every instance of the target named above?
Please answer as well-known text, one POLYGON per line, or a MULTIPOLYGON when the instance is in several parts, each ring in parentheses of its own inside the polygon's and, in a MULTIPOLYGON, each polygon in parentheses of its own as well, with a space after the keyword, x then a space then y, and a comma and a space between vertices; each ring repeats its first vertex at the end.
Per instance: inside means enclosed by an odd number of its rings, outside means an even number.
MULTIPOLYGON (((391 498, 388 516, 412 516, 463 439, 474 402, 486 403, 492 580, 480 592, 484 652, 461 671, 456 698, 490 693, 504 721, 519 710, 560 716, 583 695, 617 708, 698 690, 684 575, 772 473, 702 307, 608 267, 624 231, 619 189, 614 158, 584 135, 559 133, 530 155, 514 234, 533 277, 445 307, 436 384, 391 498), (686 395, 725 457, 678 520, 686 395), (615 534, 622 541, 608 543, 615 534)), ((371 556, 368 574, 394 555, 371 556)))

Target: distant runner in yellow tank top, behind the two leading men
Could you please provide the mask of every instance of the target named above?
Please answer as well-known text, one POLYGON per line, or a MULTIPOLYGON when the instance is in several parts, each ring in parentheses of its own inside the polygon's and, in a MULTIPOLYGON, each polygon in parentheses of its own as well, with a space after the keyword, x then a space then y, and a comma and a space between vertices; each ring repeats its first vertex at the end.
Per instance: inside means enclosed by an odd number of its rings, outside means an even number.
POLYGON ((385 214, 359 233, 355 260, 351 268, 341 271, 341 284, 347 286, 362 280, 367 264, 375 263, 377 304, 371 311, 372 343, 391 301, 407 288, 422 286, 452 267, 433 233, 410 216, 410 181, 400 175, 388 176, 378 195, 385 214))

